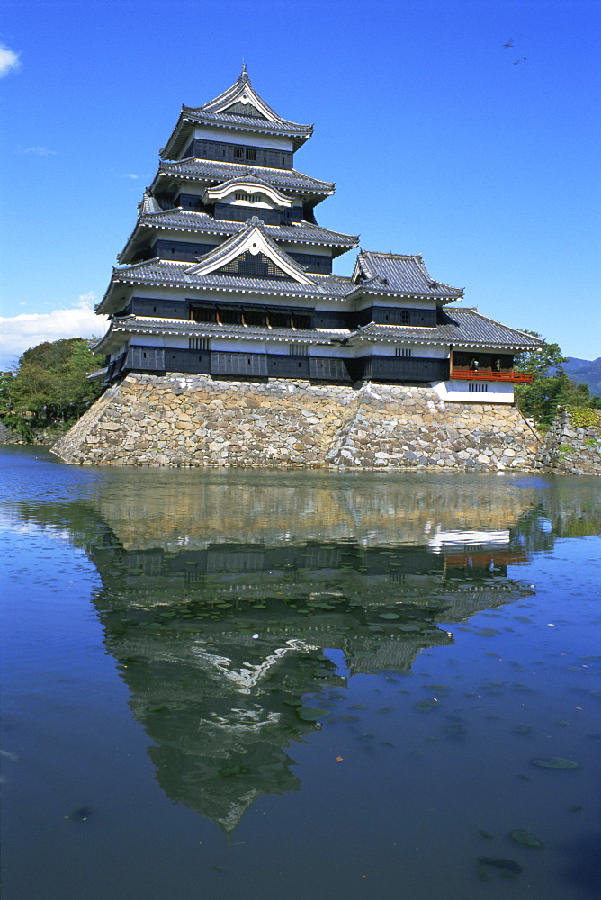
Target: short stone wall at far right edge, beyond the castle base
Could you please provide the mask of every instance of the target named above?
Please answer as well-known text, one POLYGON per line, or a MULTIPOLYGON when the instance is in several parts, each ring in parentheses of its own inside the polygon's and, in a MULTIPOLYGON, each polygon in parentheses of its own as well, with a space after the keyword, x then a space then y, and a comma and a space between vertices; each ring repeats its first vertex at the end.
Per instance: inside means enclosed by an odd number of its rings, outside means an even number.
POLYGON ((561 410, 549 429, 537 462, 543 469, 574 475, 601 475, 601 412, 561 410), (578 412, 596 424, 578 424, 578 412))

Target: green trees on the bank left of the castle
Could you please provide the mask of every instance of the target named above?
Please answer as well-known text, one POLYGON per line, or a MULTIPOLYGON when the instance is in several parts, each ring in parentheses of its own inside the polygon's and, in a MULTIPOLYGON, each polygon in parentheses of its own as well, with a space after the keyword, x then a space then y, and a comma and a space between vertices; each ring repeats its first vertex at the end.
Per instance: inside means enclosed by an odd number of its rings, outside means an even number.
POLYGON ((0 375, 0 415, 4 425, 31 440, 39 428, 68 428, 100 395, 102 385, 87 380, 98 359, 84 338, 31 347, 17 371, 0 375))

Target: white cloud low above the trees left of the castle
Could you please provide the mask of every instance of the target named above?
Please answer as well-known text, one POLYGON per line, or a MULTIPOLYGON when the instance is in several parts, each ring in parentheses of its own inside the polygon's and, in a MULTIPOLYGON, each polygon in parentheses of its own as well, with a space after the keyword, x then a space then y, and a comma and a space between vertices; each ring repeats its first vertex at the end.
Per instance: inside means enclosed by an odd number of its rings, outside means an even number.
POLYGON ((85 293, 66 310, 22 312, 0 316, 0 370, 16 365, 19 356, 44 341, 103 335, 106 317, 94 312, 94 293, 85 293))

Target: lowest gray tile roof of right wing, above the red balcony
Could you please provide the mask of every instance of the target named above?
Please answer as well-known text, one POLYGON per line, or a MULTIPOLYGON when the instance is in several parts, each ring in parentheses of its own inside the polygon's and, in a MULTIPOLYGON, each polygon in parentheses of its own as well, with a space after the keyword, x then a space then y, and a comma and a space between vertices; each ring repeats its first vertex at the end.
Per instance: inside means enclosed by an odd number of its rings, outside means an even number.
POLYGON ((376 341, 379 343, 410 343, 422 345, 446 344, 453 347, 504 347, 516 350, 539 347, 543 341, 525 334, 524 331, 510 329, 493 319, 482 316, 475 310, 453 309, 444 311, 444 324, 434 329, 411 328, 404 325, 367 325, 354 331, 350 343, 376 341))

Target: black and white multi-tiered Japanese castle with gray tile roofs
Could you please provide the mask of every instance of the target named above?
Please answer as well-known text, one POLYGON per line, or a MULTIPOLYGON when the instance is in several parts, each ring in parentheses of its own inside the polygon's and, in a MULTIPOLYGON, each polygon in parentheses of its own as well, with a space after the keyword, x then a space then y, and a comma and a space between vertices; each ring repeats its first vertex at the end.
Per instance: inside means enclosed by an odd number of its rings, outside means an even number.
POLYGON ((246 67, 183 106, 97 307, 111 321, 94 376, 396 383, 511 403, 531 379, 514 354, 536 338, 457 307, 462 289, 419 255, 360 249, 351 277, 332 272, 358 238, 318 224, 335 186, 294 165, 312 132, 274 112, 246 67))

